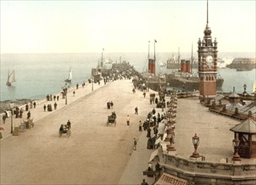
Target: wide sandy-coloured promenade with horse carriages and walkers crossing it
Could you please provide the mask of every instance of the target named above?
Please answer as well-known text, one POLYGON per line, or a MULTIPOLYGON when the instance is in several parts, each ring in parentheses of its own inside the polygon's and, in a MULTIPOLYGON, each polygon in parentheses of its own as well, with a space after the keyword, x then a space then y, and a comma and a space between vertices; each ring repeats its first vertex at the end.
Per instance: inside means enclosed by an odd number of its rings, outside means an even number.
MULTIPOLYGON (((139 120, 144 120, 154 105, 149 96, 142 92, 132 93, 131 80, 87 84, 73 89, 65 99, 60 99, 57 109, 44 112, 43 105, 54 102, 40 101, 36 108, 29 109, 35 127, 19 136, 10 135, 11 119, 1 126, 1 184, 140 184, 147 161, 152 153, 146 149, 146 132, 138 131, 139 120), (76 91, 73 96, 73 91, 76 91), (107 102, 113 101, 114 108, 107 109, 107 102), (134 114, 134 108, 139 114, 134 114), (107 116, 115 111, 117 124, 107 127, 107 116), (131 117, 127 126, 126 116, 131 117), (72 135, 59 137, 59 127, 72 123, 72 135), (137 151, 133 151, 133 138, 139 140, 137 151), (135 153, 136 159, 131 171, 126 165, 135 153), (121 178, 121 179, 120 179, 121 178)), ((24 112, 24 118, 26 112, 24 112)), ((22 119, 13 118, 13 126, 22 119)))

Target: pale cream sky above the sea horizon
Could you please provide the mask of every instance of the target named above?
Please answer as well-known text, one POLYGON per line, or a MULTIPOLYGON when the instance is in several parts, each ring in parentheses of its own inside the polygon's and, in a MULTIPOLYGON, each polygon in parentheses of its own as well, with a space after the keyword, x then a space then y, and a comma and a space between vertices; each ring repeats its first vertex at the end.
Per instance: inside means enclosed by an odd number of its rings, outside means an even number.
MULTIPOLYGON (((255 0, 209 0, 211 36, 222 52, 255 52, 255 0)), ((197 50, 206 0, 1 0, 1 53, 197 50)))

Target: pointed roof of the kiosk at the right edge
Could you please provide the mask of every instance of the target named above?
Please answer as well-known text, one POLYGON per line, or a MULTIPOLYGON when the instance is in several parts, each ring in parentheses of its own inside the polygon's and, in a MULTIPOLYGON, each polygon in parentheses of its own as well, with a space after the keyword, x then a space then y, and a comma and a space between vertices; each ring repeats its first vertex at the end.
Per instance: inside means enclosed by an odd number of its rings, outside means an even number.
POLYGON ((249 117, 241 124, 232 127, 230 130, 237 133, 256 134, 256 122, 249 117))

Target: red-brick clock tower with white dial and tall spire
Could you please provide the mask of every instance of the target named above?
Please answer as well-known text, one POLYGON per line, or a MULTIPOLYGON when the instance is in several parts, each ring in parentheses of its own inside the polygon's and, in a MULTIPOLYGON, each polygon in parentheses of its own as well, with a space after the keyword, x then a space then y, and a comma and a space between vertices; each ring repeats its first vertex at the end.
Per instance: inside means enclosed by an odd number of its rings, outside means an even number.
POLYGON ((200 100, 216 97, 217 76, 217 41, 211 40, 211 29, 208 26, 208 0, 207 21, 203 40, 198 40, 198 74, 200 77, 200 100))

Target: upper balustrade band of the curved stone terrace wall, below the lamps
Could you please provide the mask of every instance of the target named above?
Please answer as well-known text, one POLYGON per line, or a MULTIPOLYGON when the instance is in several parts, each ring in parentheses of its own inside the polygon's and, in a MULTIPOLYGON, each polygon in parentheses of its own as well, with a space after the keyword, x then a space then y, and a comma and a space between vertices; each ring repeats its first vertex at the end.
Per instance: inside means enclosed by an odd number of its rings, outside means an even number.
POLYGON ((256 164, 220 163, 211 161, 193 161, 180 156, 164 155, 166 171, 182 172, 193 177, 216 177, 232 179, 236 177, 256 180, 256 164))

